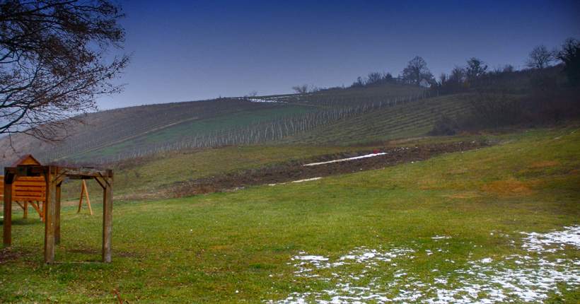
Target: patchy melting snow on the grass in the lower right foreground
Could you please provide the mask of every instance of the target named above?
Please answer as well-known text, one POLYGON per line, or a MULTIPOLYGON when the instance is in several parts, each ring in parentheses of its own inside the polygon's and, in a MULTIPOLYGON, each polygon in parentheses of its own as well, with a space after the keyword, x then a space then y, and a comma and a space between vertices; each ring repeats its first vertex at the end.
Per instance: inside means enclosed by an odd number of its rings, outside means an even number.
MULTIPOLYGON (((543 303, 550 294, 560 294, 557 284, 570 291, 580 288, 580 261, 545 257, 545 253, 562 250, 566 245, 580 247, 580 226, 565 229, 545 234, 523 233, 527 236, 522 247, 529 255, 475 260, 465 267, 455 267, 451 273, 431 269, 432 276, 427 278, 409 274, 399 264, 413 259, 419 250, 359 248, 335 261, 301 252, 291 261, 296 267, 295 275, 325 281, 334 288, 291 293, 284 300, 267 303, 543 303)), ((425 251, 428 256, 444 252, 425 251)))

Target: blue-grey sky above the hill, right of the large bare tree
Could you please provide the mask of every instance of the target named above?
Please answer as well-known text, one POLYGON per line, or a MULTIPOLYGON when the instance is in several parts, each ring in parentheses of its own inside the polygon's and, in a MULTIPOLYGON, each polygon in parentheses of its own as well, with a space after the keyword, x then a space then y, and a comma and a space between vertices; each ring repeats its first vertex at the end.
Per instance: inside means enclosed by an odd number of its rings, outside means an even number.
POLYGON ((100 110, 349 86, 422 57, 435 76, 477 57, 523 69, 580 39, 580 1, 120 1, 132 54, 100 110))

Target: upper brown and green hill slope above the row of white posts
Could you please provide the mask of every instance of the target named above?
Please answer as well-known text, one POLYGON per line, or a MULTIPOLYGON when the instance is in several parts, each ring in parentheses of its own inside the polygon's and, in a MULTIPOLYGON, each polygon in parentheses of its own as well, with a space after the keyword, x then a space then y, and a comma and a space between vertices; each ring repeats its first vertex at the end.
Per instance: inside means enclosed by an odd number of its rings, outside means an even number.
MULTIPOLYGON (((408 98, 409 95, 420 95, 423 91, 424 88, 415 86, 377 86, 327 90, 306 95, 263 96, 256 99, 274 98, 286 102, 298 102, 299 105, 263 104, 263 107, 257 107, 254 103, 253 106, 250 105, 251 110, 250 107, 239 103, 224 108, 221 105, 224 100, 127 107, 88 114, 87 125, 74 127, 74 135, 64 143, 64 146, 47 145, 30 139, 28 136, 17 134, 13 136, 13 147, 21 154, 32 153, 41 161, 65 158, 94 160, 100 156, 107 157, 115 153, 151 149, 152 146, 168 144, 174 139, 196 136, 196 134, 214 133, 231 127, 240 128, 252 122, 294 115, 298 112, 320 110, 313 105, 333 107, 371 105, 379 99, 408 98), (207 104, 211 105, 211 103, 217 103, 219 106, 207 107, 207 104), (198 108, 200 112, 196 112, 195 109, 198 108), (218 112, 211 112, 214 110, 218 112), (241 112, 237 112, 238 110, 241 112), (213 119, 199 119, 199 115, 210 116, 213 119), (219 120, 216 120, 216 117, 219 117, 219 120), (159 130, 160 128, 162 129, 159 130)), ((8 146, 8 139, 0 139, 0 146, 8 146)), ((10 165, 16 159, 18 157, 14 156, 10 149, 0 151, 0 165, 10 165)))

